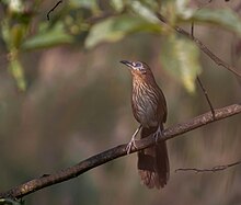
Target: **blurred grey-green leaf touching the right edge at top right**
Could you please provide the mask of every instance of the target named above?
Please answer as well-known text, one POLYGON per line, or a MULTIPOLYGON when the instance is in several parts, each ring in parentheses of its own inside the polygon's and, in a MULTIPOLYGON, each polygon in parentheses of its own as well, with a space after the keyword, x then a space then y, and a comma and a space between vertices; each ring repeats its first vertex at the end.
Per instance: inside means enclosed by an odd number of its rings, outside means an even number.
POLYGON ((241 19, 231 10, 210 10, 202 9, 197 10, 192 20, 195 22, 211 23, 221 25, 237 34, 241 35, 241 19))

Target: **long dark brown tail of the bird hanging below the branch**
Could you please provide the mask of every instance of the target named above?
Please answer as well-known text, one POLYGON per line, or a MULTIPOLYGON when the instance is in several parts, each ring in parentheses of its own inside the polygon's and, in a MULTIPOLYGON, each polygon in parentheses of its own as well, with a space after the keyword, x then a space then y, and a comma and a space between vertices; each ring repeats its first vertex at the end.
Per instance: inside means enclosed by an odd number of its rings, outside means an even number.
MULTIPOLYGON (((163 129, 163 127, 161 127, 163 129)), ((142 128, 140 138, 148 137, 157 132, 157 127, 142 128)), ((163 187, 170 174, 169 156, 165 141, 138 152, 138 171, 141 181, 149 189, 163 187)))

